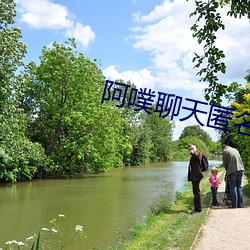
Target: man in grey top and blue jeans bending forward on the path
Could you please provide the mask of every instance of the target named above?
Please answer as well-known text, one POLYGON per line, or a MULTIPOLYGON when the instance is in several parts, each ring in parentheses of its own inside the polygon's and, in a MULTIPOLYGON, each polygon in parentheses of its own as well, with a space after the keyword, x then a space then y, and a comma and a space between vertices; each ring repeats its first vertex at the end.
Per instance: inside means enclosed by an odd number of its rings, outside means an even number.
POLYGON ((244 174, 244 165, 240 153, 236 148, 228 145, 222 146, 223 165, 227 171, 227 178, 230 185, 232 205, 230 208, 243 207, 242 196, 242 177, 244 174))

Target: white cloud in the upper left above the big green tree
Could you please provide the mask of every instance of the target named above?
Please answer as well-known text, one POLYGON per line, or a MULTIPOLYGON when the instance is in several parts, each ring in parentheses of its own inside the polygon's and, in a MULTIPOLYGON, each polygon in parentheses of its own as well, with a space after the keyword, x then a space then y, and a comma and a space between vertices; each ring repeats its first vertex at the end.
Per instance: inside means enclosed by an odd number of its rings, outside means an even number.
POLYGON ((75 38, 84 48, 95 40, 89 25, 75 22, 74 15, 63 5, 49 0, 17 0, 20 20, 34 29, 64 30, 63 35, 75 38))

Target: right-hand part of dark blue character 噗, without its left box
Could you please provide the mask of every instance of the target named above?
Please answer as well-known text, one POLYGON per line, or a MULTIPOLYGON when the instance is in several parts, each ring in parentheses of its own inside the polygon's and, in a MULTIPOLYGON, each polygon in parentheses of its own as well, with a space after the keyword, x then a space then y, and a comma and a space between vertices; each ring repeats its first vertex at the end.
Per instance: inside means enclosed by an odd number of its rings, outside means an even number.
POLYGON ((139 111, 144 109, 148 114, 151 114, 151 112, 148 111, 152 110, 152 107, 148 107, 148 106, 152 106, 152 103, 154 102, 154 100, 152 99, 153 97, 155 97, 154 95, 155 91, 152 91, 151 94, 151 89, 149 90, 149 93, 146 92, 146 88, 144 88, 144 91, 142 90, 142 88, 140 88, 140 91, 138 92, 138 101, 135 104, 136 107, 139 107, 138 109, 134 109, 134 111, 139 111))

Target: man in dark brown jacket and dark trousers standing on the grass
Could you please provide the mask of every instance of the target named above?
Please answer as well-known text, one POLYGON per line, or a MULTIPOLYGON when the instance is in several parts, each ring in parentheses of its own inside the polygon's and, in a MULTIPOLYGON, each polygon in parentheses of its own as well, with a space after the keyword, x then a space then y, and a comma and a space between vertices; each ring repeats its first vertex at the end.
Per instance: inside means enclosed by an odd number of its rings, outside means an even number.
POLYGON ((194 195, 194 209, 191 214, 199 213, 202 211, 200 181, 203 178, 201 172, 201 159, 202 153, 197 150, 196 146, 191 143, 188 145, 191 153, 190 163, 188 167, 188 181, 192 182, 193 195, 194 195))

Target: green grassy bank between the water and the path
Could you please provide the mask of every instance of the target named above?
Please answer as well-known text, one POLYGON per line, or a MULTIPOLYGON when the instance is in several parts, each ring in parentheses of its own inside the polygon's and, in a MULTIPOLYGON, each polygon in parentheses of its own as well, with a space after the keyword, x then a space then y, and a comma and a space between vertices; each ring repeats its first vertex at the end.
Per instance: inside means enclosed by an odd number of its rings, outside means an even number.
MULTIPOLYGON (((220 170, 221 178, 223 170, 220 170)), ((170 205, 158 204, 145 222, 138 223, 124 242, 111 249, 190 249, 208 214, 211 201, 208 177, 201 181, 203 211, 190 215, 193 208, 191 184, 177 193, 170 205)))

